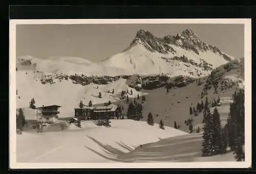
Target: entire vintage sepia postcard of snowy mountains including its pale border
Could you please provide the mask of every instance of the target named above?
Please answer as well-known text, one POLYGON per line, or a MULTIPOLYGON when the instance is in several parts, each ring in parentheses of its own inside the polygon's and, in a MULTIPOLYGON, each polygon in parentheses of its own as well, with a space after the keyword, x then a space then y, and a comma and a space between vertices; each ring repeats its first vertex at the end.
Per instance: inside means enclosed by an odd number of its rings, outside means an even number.
POLYGON ((9 69, 12 169, 251 166, 250 19, 10 20, 9 69))

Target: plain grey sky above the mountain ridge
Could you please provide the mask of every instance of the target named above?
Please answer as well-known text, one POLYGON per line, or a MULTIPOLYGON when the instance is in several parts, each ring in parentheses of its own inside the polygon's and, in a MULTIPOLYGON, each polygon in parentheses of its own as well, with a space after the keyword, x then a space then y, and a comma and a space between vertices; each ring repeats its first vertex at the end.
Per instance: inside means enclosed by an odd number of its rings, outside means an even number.
POLYGON ((126 49, 139 29, 163 37, 187 28, 222 52, 244 57, 244 25, 241 24, 17 25, 16 56, 73 56, 98 62, 126 49))

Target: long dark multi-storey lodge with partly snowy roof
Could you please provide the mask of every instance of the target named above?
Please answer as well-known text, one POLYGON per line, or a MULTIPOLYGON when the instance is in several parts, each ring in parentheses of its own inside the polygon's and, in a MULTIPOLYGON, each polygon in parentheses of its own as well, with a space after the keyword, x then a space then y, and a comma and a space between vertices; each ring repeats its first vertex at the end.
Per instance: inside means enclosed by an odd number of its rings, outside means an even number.
POLYGON ((118 106, 110 104, 108 106, 84 106, 75 108, 75 118, 79 120, 98 120, 108 116, 110 119, 119 118, 120 112, 118 106))

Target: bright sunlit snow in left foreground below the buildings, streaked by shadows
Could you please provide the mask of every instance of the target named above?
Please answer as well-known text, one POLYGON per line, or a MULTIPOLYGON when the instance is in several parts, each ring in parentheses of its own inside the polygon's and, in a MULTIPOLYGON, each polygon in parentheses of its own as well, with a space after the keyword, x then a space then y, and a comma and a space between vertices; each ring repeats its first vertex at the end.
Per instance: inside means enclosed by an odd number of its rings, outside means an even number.
POLYGON ((81 128, 72 125, 64 131, 37 134, 33 129, 17 135, 17 162, 116 162, 118 155, 140 144, 187 135, 171 127, 162 130, 158 125, 134 120, 111 120, 111 127, 99 127, 92 121, 81 122, 81 128))

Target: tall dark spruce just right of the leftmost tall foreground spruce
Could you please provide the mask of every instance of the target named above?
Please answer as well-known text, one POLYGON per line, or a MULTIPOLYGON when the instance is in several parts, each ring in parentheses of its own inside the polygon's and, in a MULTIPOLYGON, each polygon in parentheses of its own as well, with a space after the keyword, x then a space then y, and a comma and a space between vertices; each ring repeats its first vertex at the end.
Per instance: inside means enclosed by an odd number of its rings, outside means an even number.
POLYGON ((211 141, 213 154, 221 154, 223 152, 223 137, 220 114, 218 112, 217 107, 215 107, 214 112, 212 114, 212 130, 213 134, 211 141))

